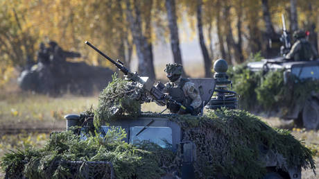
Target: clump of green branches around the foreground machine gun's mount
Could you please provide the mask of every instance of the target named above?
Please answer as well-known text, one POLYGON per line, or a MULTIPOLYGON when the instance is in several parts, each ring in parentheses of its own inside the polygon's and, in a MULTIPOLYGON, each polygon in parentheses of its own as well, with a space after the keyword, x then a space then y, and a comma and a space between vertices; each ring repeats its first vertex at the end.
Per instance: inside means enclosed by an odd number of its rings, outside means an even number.
POLYGON ((112 76, 112 82, 98 96, 98 108, 94 125, 100 126, 121 115, 137 117, 141 114, 141 103, 148 101, 142 85, 112 76))

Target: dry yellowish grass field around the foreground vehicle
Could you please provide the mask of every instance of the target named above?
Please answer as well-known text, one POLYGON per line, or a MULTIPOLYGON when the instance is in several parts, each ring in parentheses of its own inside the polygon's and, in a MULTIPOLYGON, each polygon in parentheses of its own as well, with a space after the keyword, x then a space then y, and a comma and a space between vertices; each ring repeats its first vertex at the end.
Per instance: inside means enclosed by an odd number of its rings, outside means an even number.
MULTIPOLYGON (((48 133, 22 132, 15 135, 1 133, 1 128, 64 128, 65 114, 79 114, 89 108, 96 108, 98 105, 98 94, 94 96, 72 96, 64 95, 53 98, 46 95, 35 95, 31 93, 0 94, 0 157, 9 150, 17 150, 24 146, 43 146, 48 139, 48 133)), ((164 107, 155 103, 148 103, 142 106, 143 111, 160 112, 164 107)), ((286 123, 273 117, 270 119, 261 118, 270 126, 284 126, 286 123)), ((296 139, 300 139, 316 153, 316 163, 319 164, 319 131, 306 131, 300 128, 292 128, 291 133, 296 139)), ((319 170, 317 169, 317 173, 319 170)), ((3 176, 3 173, 0 173, 3 176)), ((317 178, 312 171, 303 171, 302 178, 317 178)))

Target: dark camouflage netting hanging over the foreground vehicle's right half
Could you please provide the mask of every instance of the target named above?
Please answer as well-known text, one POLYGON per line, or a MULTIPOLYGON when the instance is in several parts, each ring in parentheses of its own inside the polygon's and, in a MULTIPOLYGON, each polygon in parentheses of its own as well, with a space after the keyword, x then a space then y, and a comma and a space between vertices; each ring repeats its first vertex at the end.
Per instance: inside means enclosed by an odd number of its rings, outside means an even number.
POLYGON ((242 110, 209 111, 202 117, 175 116, 171 120, 184 129, 184 140, 197 146, 198 178, 211 178, 216 173, 230 178, 261 178, 266 168, 259 158, 260 148, 283 155, 286 160, 277 160, 277 167, 284 170, 292 166, 316 168, 311 151, 287 130, 271 128, 242 110))

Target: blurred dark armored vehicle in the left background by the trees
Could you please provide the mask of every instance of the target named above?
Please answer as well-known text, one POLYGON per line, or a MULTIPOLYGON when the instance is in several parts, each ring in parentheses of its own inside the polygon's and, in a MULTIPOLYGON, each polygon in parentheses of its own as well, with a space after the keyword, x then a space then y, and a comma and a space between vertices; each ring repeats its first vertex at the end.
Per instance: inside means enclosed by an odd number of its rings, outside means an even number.
POLYGON ((85 62, 69 62, 67 58, 80 58, 80 53, 64 51, 56 42, 40 44, 37 63, 26 65, 18 83, 25 91, 58 95, 92 94, 101 91, 111 80, 114 71, 94 67, 85 62))

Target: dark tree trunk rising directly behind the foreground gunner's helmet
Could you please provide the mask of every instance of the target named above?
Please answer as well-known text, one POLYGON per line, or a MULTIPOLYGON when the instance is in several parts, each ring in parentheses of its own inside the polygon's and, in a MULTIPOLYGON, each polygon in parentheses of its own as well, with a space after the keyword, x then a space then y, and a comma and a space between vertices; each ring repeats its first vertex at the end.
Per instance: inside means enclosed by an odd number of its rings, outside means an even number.
MULTIPOLYGON (((180 38, 178 36, 178 24, 175 10, 175 0, 165 1, 167 17, 169 19, 169 31, 171 33, 171 49, 175 63, 182 65, 182 55, 180 52, 180 38)), ((184 68, 183 68, 183 74, 184 68)))

